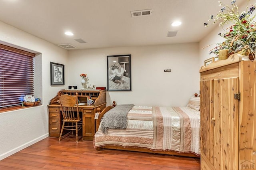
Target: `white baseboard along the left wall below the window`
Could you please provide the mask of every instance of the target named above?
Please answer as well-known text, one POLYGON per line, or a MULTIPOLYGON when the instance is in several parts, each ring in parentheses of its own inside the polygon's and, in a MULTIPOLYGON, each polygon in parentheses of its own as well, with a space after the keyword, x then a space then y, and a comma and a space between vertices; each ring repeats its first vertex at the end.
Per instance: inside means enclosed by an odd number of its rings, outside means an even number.
POLYGON ((35 144, 36 142, 39 142, 40 140, 43 140, 44 138, 47 138, 49 136, 49 133, 46 133, 42 136, 39 136, 38 138, 35 138, 34 140, 31 140, 30 142, 24 143, 21 146, 18 146, 16 148, 13 148, 12 150, 9 150, 8 152, 5 152, 0 155, 0 160, 7 158, 8 156, 11 156, 12 154, 15 154, 16 152, 19 152, 20 150, 35 144))

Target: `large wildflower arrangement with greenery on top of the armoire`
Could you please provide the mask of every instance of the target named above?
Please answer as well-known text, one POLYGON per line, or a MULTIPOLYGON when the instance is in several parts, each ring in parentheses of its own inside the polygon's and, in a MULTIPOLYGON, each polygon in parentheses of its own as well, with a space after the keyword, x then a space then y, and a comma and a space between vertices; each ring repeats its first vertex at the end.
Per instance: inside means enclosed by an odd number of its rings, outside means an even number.
MULTIPOLYGON (((250 0, 247 0, 249 2, 250 0)), ((256 14, 254 12, 256 4, 250 5, 246 11, 239 13, 236 0, 231 1, 231 7, 222 4, 220 12, 216 15, 210 16, 210 20, 213 20, 213 24, 220 22, 219 26, 224 24, 232 24, 228 28, 224 29, 225 33, 218 35, 224 38, 224 42, 217 43, 217 46, 210 50, 211 53, 215 53, 218 57, 218 51, 221 49, 228 49, 229 55, 232 53, 240 53, 241 55, 250 55, 255 59, 256 54, 256 22, 254 20, 256 14), (254 13, 254 14, 253 14, 254 13)), ((208 26, 208 23, 204 23, 204 26, 208 26)))

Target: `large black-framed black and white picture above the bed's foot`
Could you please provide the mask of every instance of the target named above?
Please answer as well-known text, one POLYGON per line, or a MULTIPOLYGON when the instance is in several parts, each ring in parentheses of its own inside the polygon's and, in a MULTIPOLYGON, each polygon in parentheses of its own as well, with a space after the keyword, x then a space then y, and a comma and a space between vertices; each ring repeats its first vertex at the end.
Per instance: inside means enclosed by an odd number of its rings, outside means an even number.
POLYGON ((131 54, 108 55, 108 91, 132 91, 131 54))

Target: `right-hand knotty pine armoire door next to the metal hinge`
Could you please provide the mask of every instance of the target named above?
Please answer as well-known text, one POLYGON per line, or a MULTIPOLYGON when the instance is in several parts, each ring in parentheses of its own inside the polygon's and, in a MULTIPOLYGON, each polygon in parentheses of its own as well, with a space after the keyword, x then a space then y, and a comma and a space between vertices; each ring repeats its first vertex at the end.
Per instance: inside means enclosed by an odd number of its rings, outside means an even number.
POLYGON ((214 168, 238 169, 238 77, 214 80, 214 168))

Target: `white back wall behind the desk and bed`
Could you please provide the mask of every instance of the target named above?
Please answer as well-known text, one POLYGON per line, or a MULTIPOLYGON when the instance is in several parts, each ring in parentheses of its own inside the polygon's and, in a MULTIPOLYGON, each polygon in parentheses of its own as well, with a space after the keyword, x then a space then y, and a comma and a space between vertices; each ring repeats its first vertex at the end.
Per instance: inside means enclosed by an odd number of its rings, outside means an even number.
POLYGON ((89 83, 107 87, 107 55, 131 54, 132 91, 107 92, 107 105, 133 103, 150 106, 185 106, 199 93, 198 43, 116 47, 69 51, 68 85, 81 88, 81 73, 89 83), (172 72, 164 72, 172 69, 172 72))

